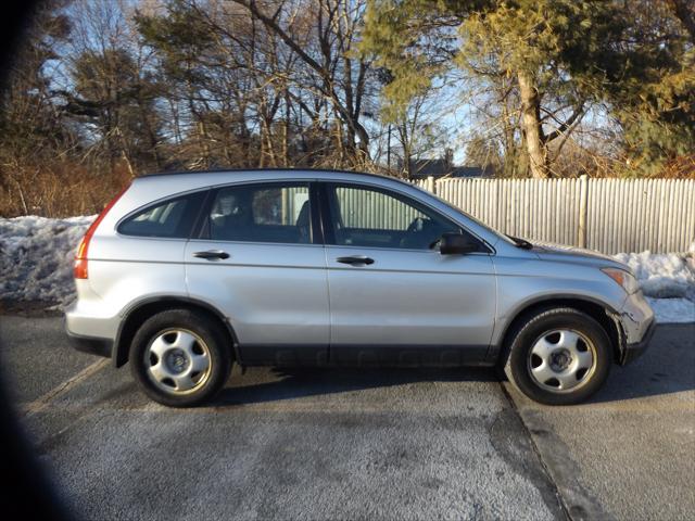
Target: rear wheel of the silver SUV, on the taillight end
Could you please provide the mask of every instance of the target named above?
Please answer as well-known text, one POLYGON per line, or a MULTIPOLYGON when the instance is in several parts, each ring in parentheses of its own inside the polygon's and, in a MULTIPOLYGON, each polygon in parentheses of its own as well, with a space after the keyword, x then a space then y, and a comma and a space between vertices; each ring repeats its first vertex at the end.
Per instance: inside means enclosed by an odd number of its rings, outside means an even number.
POLYGON ((231 371, 230 345, 222 325, 192 309, 159 313, 138 329, 130 347, 134 377, 144 393, 170 407, 212 398, 231 371))

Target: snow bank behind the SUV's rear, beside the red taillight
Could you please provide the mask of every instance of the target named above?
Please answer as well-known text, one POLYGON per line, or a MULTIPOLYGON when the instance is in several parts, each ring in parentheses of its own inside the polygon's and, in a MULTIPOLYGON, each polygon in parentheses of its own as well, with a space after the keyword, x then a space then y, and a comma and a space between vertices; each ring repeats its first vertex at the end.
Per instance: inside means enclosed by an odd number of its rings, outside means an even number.
POLYGON ((96 217, 0 219, 0 298, 72 301, 75 249, 96 217))

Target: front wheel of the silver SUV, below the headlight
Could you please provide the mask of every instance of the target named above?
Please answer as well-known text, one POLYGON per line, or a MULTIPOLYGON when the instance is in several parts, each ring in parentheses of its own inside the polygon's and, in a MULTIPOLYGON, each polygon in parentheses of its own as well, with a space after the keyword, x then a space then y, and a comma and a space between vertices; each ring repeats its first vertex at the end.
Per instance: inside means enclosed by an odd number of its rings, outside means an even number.
POLYGON ((545 309, 511 331, 504 371, 528 397, 547 405, 585 401, 604 384, 610 340, 592 317, 573 308, 545 309))

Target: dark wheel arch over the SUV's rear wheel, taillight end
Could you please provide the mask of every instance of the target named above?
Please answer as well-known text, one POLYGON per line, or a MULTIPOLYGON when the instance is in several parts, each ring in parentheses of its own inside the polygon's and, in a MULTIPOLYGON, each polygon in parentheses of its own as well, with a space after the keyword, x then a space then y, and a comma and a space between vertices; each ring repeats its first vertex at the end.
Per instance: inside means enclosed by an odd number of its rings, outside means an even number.
POLYGON ((130 343, 132 342, 135 333, 148 318, 160 312, 173 308, 202 312, 222 322, 224 330, 228 334, 235 360, 240 363, 237 334, 229 323, 229 320, 227 320, 219 309, 206 302, 188 296, 154 296, 139 301, 125 310, 111 354, 113 365, 115 367, 122 367, 128 361, 130 343))

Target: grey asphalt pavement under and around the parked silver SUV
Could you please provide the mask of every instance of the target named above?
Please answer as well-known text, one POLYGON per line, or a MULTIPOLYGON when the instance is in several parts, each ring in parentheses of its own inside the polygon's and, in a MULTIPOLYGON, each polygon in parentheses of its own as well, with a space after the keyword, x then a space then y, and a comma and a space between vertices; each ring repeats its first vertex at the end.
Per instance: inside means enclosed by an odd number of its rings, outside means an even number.
POLYGON ((492 370, 235 369, 167 409, 59 318, 0 317, 2 379, 79 519, 692 519, 695 327, 660 326, 587 405, 492 370))

